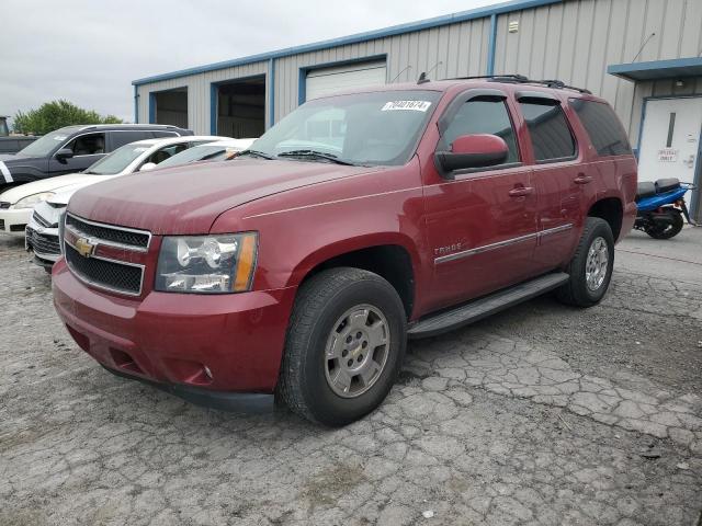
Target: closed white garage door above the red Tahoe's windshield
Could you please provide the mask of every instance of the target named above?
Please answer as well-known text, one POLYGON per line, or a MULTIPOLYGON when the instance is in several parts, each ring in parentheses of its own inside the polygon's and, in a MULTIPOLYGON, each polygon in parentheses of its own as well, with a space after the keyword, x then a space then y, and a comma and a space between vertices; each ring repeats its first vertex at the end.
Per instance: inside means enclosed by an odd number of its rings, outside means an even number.
POLYGON ((341 90, 384 84, 385 69, 384 60, 314 69, 307 73, 306 100, 310 101, 341 90))

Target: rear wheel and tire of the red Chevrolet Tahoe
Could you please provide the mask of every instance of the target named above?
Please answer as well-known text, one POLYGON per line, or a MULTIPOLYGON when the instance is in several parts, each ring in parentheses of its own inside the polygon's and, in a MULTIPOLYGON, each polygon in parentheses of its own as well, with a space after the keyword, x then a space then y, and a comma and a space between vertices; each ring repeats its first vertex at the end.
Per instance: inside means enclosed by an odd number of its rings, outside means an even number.
POLYGON ((570 279, 556 291, 558 299, 576 307, 599 304, 610 286, 613 266, 614 236, 610 225, 599 217, 588 217, 566 271, 570 279))

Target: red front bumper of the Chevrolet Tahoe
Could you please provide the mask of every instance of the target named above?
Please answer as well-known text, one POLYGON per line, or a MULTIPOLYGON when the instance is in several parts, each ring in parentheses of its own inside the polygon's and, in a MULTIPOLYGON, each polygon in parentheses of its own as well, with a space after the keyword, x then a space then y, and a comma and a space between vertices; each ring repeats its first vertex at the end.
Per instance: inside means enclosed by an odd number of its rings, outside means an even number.
POLYGON ((132 299, 83 284, 63 259, 52 287, 76 343, 120 376, 210 407, 272 408, 295 287, 132 299))

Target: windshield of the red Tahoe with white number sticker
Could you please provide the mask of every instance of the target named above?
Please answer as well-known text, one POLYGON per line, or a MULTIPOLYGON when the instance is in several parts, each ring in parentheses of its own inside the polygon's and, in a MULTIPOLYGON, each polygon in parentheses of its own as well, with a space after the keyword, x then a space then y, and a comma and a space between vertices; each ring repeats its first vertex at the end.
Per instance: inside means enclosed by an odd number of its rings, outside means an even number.
POLYGON ((405 164, 440 96, 412 90, 318 99, 269 129, 251 150, 318 162, 325 158, 310 152, 353 164, 405 164))

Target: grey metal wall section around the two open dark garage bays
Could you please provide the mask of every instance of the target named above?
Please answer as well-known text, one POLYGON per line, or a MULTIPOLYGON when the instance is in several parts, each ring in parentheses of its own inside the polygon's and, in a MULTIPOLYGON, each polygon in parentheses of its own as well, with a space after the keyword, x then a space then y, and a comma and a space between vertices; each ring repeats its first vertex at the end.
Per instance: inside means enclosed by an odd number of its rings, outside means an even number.
MULTIPOLYGON (((149 93, 188 87, 188 127, 197 135, 211 134, 211 84, 226 80, 236 80, 246 77, 268 73, 268 61, 252 62, 234 68, 218 69, 200 75, 190 75, 177 79, 162 80, 137 87, 138 122, 148 123, 149 119, 149 93)), ((268 101, 270 85, 265 82, 265 122, 268 122, 268 101)))

